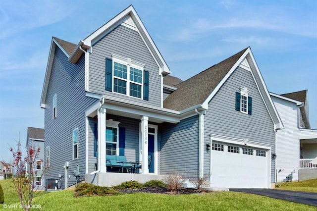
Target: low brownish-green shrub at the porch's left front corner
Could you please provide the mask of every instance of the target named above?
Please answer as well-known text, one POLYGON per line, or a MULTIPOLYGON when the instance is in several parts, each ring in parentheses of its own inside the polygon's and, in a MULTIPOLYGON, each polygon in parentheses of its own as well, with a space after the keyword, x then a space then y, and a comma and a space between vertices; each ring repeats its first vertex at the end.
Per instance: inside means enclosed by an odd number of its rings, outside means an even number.
POLYGON ((118 191, 113 190, 109 187, 96 186, 90 183, 82 183, 78 185, 75 189, 75 196, 108 196, 108 195, 117 195, 118 191))

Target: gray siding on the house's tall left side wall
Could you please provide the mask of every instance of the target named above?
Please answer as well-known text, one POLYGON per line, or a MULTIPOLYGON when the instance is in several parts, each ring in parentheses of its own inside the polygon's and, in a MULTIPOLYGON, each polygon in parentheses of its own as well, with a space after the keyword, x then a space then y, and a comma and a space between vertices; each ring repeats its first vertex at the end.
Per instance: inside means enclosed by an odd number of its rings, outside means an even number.
MULTIPOLYGON (((50 146, 51 151, 46 179, 58 179, 58 174, 64 175, 63 165, 66 161, 69 162, 69 175, 73 174, 77 165, 80 173, 85 173, 85 109, 96 99, 85 97, 84 66, 84 56, 73 64, 56 47, 45 108, 45 149, 50 146), (57 117, 53 119, 55 94, 57 117), (73 159, 73 130, 76 128, 78 128, 78 158, 73 159)), ((72 176, 68 185, 75 182, 75 177, 72 176)))

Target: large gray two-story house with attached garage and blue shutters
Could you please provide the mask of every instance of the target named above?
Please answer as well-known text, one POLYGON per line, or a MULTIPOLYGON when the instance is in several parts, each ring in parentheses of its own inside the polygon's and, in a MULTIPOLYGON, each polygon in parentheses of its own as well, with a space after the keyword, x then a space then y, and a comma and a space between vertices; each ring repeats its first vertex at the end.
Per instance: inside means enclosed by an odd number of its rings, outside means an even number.
POLYGON ((53 37, 46 178, 111 186, 177 171, 214 188, 270 188, 283 125, 251 49, 183 82, 169 73, 132 5, 78 45, 53 37), (144 161, 141 173, 110 172, 107 155, 144 161))

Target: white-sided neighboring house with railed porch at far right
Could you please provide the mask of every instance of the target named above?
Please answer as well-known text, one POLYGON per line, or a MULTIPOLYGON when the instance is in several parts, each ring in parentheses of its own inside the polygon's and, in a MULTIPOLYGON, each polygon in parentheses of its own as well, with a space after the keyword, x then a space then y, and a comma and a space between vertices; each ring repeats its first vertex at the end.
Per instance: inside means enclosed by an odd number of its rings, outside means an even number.
POLYGON ((317 130, 309 123, 307 90, 270 95, 285 126, 276 134, 277 182, 317 178, 317 130))

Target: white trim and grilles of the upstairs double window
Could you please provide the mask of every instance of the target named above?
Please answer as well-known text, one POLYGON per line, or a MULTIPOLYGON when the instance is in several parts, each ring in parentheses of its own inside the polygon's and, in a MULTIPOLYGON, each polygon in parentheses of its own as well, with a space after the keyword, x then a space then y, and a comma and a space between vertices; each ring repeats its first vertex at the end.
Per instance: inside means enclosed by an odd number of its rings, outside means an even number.
POLYGON ((133 61, 131 58, 126 58, 126 57, 115 55, 115 54, 111 54, 111 56, 112 56, 112 92, 116 93, 116 94, 128 96, 128 97, 131 97, 131 98, 143 99, 143 95, 144 95, 144 93, 143 93, 144 67, 145 67, 145 65, 140 63, 140 62, 133 61), (114 68, 114 62, 117 62, 117 63, 120 63, 120 64, 123 64, 123 65, 127 66, 127 79, 123 79, 123 78, 114 76, 114 69, 113 69, 114 68), (133 67, 133 68, 136 68, 136 69, 139 69, 139 70, 142 71, 142 83, 138 83, 138 82, 130 80, 130 67, 133 67), (117 93, 117 92, 113 91, 114 90, 114 79, 115 78, 117 78, 119 80, 122 80, 122 81, 126 81, 126 94, 117 93), (141 85, 141 98, 130 96, 130 83, 141 85))

